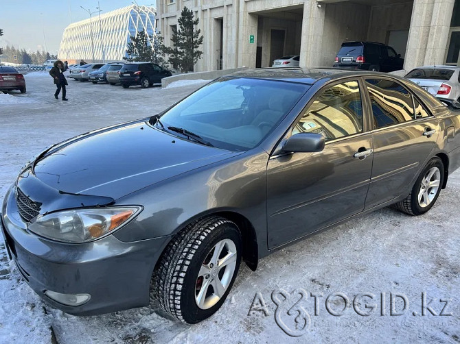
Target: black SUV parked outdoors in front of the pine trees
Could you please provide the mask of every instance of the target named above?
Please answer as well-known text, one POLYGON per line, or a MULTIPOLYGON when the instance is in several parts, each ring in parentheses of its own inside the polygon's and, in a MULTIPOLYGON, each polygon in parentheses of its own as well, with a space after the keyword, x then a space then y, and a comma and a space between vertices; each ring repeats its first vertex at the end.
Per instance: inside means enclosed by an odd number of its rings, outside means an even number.
POLYGON ((148 88, 152 84, 161 83, 163 77, 170 77, 172 74, 168 69, 164 69, 158 64, 151 62, 130 62, 124 64, 118 71, 119 82, 124 88, 131 85, 141 85, 148 88))

